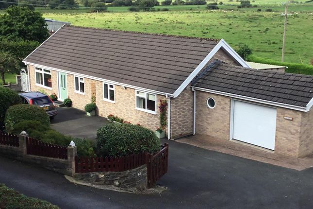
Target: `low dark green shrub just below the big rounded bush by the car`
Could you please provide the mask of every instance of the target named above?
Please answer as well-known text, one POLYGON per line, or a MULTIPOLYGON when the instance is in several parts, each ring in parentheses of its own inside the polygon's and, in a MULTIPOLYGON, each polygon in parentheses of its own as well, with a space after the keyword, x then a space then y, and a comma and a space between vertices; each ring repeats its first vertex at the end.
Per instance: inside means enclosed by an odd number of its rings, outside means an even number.
POLYGON ((41 140, 44 138, 44 134, 49 130, 49 126, 42 124, 39 121, 21 121, 13 126, 13 131, 11 134, 20 134, 22 131, 34 138, 41 140))

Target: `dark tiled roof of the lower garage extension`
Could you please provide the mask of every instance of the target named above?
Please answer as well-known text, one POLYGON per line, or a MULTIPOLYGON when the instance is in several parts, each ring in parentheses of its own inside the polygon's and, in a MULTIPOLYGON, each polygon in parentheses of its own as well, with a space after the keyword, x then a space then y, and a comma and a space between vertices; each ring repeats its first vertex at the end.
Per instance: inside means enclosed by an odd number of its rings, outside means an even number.
POLYGON ((313 98, 313 76, 268 72, 219 61, 199 74, 192 86, 300 107, 313 98))

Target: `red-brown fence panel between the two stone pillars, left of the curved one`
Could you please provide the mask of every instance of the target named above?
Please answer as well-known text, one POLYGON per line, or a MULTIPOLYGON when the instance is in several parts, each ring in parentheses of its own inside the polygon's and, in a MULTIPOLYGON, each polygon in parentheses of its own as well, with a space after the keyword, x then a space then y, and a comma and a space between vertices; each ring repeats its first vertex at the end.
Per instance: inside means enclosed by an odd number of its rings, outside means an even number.
POLYGON ((67 159, 67 147, 49 144, 28 137, 26 139, 28 155, 67 159))

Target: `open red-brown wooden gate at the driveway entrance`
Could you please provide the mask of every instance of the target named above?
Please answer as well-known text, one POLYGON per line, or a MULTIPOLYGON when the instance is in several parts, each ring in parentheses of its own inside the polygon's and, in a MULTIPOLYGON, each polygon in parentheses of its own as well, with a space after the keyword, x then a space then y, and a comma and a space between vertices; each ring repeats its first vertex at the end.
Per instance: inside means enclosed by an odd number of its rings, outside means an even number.
POLYGON ((162 146, 160 152, 148 156, 148 187, 155 185, 155 182, 166 174, 168 169, 168 144, 162 146))

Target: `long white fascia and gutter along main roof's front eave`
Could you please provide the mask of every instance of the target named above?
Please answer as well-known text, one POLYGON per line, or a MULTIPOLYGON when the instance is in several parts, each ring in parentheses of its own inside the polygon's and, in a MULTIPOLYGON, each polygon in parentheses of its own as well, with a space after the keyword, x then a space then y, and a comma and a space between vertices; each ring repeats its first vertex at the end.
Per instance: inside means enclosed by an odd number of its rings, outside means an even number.
POLYGON ((44 66, 44 65, 38 65, 38 64, 31 63, 31 62, 24 62, 24 63, 25 63, 25 65, 33 65, 34 67, 44 68, 46 70, 54 70, 54 71, 58 71, 58 72, 65 72, 67 74, 76 75, 76 76, 80 76, 80 77, 83 77, 83 78, 89 78, 89 79, 96 80, 96 81, 101 81, 101 82, 104 82, 104 83, 110 83, 110 84, 114 84, 114 85, 117 85, 117 86, 129 87, 129 88, 142 90, 142 91, 146 91, 146 92, 150 92, 150 93, 155 93, 155 94, 164 95, 164 96, 167 95, 167 96, 173 97, 173 94, 170 94, 170 93, 165 93, 165 92, 161 92, 161 91, 155 91, 155 90, 151 90, 151 89, 148 89, 148 88, 136 87, 136 86, 123 84, 123 83, 119 83, 119 82, 115 82, 115 81, 111 81, 111 80, 107 80, 107 79, 97 78, 97 77, 94 77, 94 76, 89 76, 89 75, 85 75, 85 74, 81 74, 81 73, 71 72, 71 71, 67 71, 67 70, 61 70, 61 69, 57 69, 57 68, 51 68, 51 67, 47 67, 47 66, 44 66))

